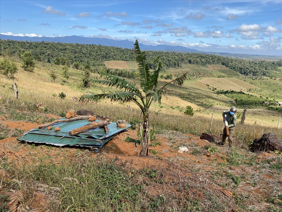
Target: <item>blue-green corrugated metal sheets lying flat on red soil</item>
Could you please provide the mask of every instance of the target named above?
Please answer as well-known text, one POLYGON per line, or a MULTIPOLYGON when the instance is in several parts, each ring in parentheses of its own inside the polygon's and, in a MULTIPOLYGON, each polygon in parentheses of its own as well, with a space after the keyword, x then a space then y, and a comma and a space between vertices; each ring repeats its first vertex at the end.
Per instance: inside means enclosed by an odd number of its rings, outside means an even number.
MULTIPOLYGON (((61 120, 65 119, 62 118, 61 120)), ((99 121, 99 120, 95 120, 99 121)), ((51 130, 47 130, 47 127, 39 129, 39 127, 29 130, 24 136, 17 139, 19 141, 26 141, 31 143, 44 143, 56 146, 80 146, 88 147, 93 151, 98 152, 103 147, 105 143, 111 140, 118 132, 126 130, 131 125, 126 125, 126 127, 117 127, 116 122, 111 122, 107 127, 109 128, 106 134, 104 128, 96 128, 88 130, 84 133, 79 133, 77 135, 69 135, 69 131, 76 128, 88 125, 91 121, 88 119, 75 120, 71 122, 57 122, 52 124, 51 130), (60 131, 55 131, 55 127, 59 127, 60 131)))

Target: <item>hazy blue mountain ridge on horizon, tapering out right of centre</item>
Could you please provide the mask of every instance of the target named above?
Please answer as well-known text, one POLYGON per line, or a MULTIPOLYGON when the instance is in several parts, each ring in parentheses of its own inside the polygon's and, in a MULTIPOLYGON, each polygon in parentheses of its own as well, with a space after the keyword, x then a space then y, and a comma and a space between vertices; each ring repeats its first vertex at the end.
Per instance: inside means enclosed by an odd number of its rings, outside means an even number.
MULTIPOLYGON (((33 41, 33 42, 61 42, 61 43, 79 43, 79 44, 95 44, 102 46, 113 46, 113 47, 121 47, 126 49, 133 48, 134 42, 129 40, 113 40, 107 38, 89 38, 89 37, 81 37, 81 36, 65 36, 65 37, 27 37, 27 36, 12 36, 12 35, 4 35, 0 34, 0 39, 3 40, 16 40, 16 41, 33 41)), ((142 50, 152 50, 152 51, 174 51, 174 52, 199 52, 196 49, 188 49, 183 46, 169 46, 169 45, 145 45, 139 43, 139 46, 142 50)))

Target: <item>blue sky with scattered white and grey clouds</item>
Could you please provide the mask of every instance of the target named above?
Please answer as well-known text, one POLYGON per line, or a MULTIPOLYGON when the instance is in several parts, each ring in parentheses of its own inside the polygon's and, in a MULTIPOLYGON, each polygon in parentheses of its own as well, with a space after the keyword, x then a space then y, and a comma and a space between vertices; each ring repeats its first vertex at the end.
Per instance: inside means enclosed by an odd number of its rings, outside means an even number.
POLYGON ((282 1, 0 0, 0 33, 128 39, 208 52, 282 54, 282 1))

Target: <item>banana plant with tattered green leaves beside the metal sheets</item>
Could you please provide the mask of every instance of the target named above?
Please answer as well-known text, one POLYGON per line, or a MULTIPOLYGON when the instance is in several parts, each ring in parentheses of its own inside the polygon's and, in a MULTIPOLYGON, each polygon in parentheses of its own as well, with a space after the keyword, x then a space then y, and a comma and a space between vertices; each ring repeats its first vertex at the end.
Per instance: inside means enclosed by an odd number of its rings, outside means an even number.
POLYGON ((80 102, 88 101, 100 101, 109 99, 113 102, 134 102, 141 109, 141 120, 138 134, 139 140, 142 145, 140 155, 148 155, 150 146, 150 128, 149 128, 149 109, 152 102, 161 103, 161 98, 166 93, 166 86, 170 83, 174 85, 182 86, 184 80, 187 78, 187 74, 177 77, 174 80, 166 83, 164 86, 160 86, 158 83, 159 73, 162 68, 160 57, 154 60, 156 65, 155 70, 150 70, 147 63, 147 57, 145 52, 141 52, 138 40, 134 44, 134 53, 136 62, 138 64, 140 87, 126 81, 124 78, 117 77, 108 72, 98 71, 100 78, 91 80, 92 82, 107 85, 109 87, 115 87, 116 90, 111 92, 104 92, 102 94, 83 94, 79 97, 80 102), (141 88, 141 89, 140 89, 141 88))

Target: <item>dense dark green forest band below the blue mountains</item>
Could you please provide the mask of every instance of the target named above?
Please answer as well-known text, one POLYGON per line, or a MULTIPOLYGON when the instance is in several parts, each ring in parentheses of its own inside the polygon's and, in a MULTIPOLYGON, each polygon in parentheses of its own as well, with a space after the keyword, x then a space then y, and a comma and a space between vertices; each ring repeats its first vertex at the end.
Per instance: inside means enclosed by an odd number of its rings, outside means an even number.
MULTIPOLYGON (((28 42, 14 40, 0 40, 1 55, 15 55, 21 57, 29 51, 34 59, 40 62, 67 65, 80 69, 82 65, 89 64, 92 69, 103 67, 105 61, 122 60, 135 61, 132 49, 107 47, 94 44, 67 44, 55 42, 28 42)), ((177 53, 147 51, 148 61, 152 62, 160 56, 162 66, 168 68, 182 68, 186 64, 198 66, 224 65, 225 67, 245 76, 278 77, 282 61, 248 61, 245 59, 232 59, 213 54, 177 53)), ((149 64, 150 67, 153 64, 149 64)))

